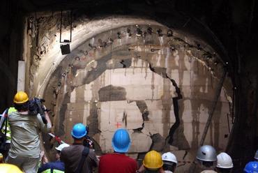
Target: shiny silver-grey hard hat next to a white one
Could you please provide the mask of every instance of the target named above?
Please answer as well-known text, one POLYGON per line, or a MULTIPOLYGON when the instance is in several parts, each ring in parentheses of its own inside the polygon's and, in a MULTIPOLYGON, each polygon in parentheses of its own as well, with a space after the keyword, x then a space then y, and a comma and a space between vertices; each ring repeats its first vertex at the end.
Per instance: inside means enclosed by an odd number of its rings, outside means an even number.
POLYGON ((217 160, 217 154, 213 146, 204 145, 199 147, 196 158, 202 161, 213 162, 217 160))

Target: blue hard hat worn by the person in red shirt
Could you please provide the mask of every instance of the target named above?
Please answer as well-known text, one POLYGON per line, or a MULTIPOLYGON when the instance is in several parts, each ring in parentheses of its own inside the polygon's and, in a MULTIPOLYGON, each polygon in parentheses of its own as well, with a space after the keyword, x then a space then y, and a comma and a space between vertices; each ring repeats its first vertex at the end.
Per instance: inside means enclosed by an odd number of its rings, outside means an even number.
POLYGON ((114 151, 118 153, 126 153, 130 148, 130 136, 126 129, 120 128, 116 130, 112 138, 112 146, 114 151))

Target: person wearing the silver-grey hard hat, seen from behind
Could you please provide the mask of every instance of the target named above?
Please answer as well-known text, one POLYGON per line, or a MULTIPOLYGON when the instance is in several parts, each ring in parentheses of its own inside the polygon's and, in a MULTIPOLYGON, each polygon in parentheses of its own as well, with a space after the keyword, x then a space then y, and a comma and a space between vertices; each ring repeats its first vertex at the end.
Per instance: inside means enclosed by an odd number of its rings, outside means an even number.
POLYGON ((215 163, 217 161, 217 154, 213 146, 204 145, 199 147, 197 151, 198 166, 201 173, 214 173, 215 163))

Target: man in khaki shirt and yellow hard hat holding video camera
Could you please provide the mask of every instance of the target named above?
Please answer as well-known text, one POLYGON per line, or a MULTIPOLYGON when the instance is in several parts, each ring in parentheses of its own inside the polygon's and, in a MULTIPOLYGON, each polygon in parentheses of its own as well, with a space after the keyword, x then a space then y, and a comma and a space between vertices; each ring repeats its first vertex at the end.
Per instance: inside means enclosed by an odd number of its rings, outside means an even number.
MULTIPOLYGON (((31 110, 31 107, 36 107, 33 106, 36 103, 30 101, 23 91, 15 94, 13 102, 17 112, 8 114, 11 142, 7 163, 17 165, 24 172, 37 172, 40 160, 40 132, 47 133, 51 129, 50 118, 47 112, 41 116, 31 113, 39 113, 31 110), (43 119, 46 123, 43 123, 43 119)), ((38 109, 42 110, 42 107, 38 109)))

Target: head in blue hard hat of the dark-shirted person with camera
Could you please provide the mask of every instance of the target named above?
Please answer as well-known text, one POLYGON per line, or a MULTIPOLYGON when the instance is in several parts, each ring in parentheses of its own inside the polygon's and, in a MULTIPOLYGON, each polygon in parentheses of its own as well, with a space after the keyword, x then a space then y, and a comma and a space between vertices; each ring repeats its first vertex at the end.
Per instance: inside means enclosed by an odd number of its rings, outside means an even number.
POLYGON ((88 130, 86 126, 84 126, 82 123, 75 124, 71 132, 75 143, 80 143, 80 144, 82 144, 82 142, 86 138, 87 133, 88 133, 88 130))

